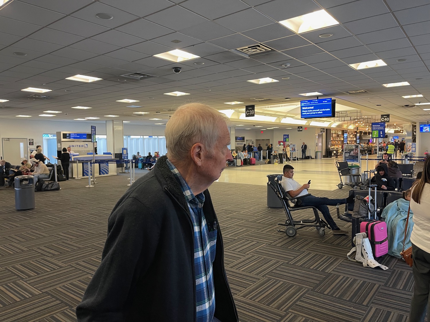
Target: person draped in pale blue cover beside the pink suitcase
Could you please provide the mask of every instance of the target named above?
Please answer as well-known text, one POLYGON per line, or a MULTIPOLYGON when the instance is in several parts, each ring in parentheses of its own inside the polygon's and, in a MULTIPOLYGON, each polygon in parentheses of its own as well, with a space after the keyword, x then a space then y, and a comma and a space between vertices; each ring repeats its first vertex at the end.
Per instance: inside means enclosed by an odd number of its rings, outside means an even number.
MULTIPOLYGON (((403 198, 399 198, 388 204, 381 213, 381 218, 387 223, 388 255, 400 258, 405 238, 405 225, 408 216, 409 201, 411 201, 411 189, 403 191, 403 198)), ((408 229, 406 231, 405 249, 412 245, 410 237, 414 214, 409 212, 408 229)))

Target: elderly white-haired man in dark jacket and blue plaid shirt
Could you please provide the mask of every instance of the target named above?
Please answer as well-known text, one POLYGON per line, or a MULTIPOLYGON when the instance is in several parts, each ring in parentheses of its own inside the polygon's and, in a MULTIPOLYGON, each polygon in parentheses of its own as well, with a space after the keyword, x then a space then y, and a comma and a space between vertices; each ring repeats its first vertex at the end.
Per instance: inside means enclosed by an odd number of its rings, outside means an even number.
POLYGON ((226 120, 199 103, 173 113, 167 156, 109 217, 101 264, 76 309, 79 322, 238 321, 208 191, 233 160, 226 120))

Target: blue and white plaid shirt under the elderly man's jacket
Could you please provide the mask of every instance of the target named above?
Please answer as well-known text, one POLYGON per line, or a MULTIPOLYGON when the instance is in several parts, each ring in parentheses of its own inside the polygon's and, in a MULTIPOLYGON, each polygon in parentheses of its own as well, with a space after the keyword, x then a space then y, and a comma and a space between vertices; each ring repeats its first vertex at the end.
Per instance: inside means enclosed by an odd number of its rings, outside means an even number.
POLYGON ((167 160, 187 200, 194 227, 194 271, 196 277, 197 322, 211 322, 215 313, 215 287, 212 263, 215 259, 216 229, 209 231, 203 214, 203 192, 194 196, 178 169, 167 160))

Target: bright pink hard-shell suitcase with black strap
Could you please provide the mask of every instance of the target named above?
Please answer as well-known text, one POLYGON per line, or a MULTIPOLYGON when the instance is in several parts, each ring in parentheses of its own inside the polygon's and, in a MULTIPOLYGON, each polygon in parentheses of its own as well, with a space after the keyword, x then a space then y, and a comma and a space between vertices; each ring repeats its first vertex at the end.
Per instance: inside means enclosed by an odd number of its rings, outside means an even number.
POLYGON ((375 258, 388 253, 387 223, 380 220, 360 223, 360 233, 369 238, 375 258))

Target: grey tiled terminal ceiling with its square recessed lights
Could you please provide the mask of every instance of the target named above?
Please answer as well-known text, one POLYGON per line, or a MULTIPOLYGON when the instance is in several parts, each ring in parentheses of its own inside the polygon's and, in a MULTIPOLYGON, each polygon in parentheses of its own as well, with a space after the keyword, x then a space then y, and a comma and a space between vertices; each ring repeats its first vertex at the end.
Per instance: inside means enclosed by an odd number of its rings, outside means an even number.
POLYGON ((0 118, 164 126, 203 102, 300 120, 299 101, 318 96, 426 122, 429 17, 427 0, 9 0, 0 118))

